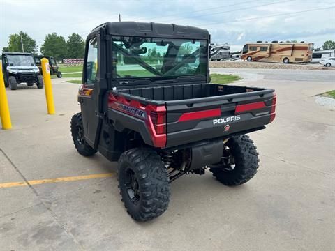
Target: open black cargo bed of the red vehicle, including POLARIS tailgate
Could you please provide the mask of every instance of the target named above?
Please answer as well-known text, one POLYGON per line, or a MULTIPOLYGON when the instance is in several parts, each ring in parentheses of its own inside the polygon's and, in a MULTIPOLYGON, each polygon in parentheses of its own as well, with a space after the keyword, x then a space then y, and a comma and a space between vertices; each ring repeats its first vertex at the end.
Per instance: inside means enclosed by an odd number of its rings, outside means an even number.
MULTIPOLYGON (((272 89, 221 84, 143 86, 110 93, 127 109, 134 104, 140 104, 135 108, 143 111, 146 106, 165 108, 166 138, 160 147, 183 146, 260 130, 274 119, 276 102, 272 89)), ((122 122, 121 116, 117 118, 121 120, 118 123, 130 124, 129 120, 122 122)), ((133 125, 131 129, 140 130, 136 123, 133 125)), ((155 146, 154 142, 151 144, 155 146)))

